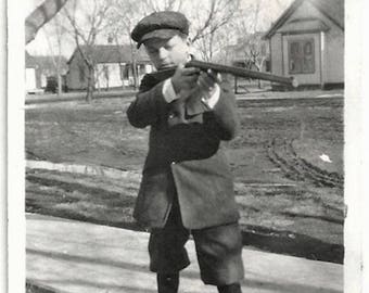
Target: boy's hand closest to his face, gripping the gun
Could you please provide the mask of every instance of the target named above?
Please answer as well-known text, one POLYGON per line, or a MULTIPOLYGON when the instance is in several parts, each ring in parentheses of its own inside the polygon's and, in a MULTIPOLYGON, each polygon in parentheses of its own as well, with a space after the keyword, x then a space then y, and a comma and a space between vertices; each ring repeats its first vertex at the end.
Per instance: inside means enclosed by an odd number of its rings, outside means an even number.
POLYGON ((174 76, 171 85, 176 93, 181 90, 191 90, 196 87, 200 69, 195 67, 186 68, 184 64, 179 64, 174 76))

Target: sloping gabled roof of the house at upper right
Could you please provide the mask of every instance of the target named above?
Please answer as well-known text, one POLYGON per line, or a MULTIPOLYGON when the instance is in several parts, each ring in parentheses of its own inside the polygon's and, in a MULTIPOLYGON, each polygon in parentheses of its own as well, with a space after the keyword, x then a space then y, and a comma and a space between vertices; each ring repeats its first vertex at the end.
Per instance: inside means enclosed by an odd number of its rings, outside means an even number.
POLYGON ((269 28, 264 38, 268 39, 272 35, 275 35, 276 30, 281 27, 287 22, 287 20, 296 11, 296 9, 298 9, 298 7, 302 5, 304 2, 311 3, 331 22, 333 22, 336 26, 344 30, 344 0, 295 0, 269 28))

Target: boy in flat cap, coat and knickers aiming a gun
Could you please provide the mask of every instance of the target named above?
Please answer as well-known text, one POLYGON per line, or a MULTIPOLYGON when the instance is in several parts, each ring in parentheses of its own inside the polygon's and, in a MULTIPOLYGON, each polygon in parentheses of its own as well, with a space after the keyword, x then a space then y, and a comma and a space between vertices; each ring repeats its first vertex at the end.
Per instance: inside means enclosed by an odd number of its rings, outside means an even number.
POLYGON ((203 282, 240 293, 239 213, 219 149, 239 128, 234 95, 219 74, 183 66, 191 59, 188 34, 186 16, 170 11, 145 16, 131 33, 157 69, 143 77, 127 110, 132 126, 151 127, 133 216, 151 228, 150 269, 157 273, 158 293, 178 292, 190 233, 203 282), (161 74, 173 66, 174 75, 161 74))

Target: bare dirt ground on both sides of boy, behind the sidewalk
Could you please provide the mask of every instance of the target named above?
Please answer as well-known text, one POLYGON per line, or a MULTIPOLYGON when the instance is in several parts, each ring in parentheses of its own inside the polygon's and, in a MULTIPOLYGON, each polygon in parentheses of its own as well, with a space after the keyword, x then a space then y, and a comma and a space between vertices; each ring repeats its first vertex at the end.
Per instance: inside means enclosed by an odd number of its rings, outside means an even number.
MULTIPOLYGON (((143 229, 131 212, 148 129, 128 124, 127 106, 127 99, 102 99, 26 110, 28 160, 132 174, 113 180, 28 169, 28 212, 143 229)), ((245 244, 342 262, 343 99, 243 99, 239 114, 242 129, 224 146, 245 244)))

